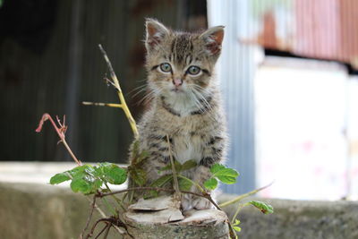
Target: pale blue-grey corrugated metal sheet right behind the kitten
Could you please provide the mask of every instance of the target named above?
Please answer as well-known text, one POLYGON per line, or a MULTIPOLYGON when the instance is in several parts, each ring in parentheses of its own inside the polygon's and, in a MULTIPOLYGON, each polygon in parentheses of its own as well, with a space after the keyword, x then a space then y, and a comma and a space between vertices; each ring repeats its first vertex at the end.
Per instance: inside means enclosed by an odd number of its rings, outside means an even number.
POLYGON ((253 30, 250 1, 208 1, 209 26, 224 25, 226 33, 217 77, 225 100, 231 147, 227 165, 240 172, 238 184, 222 185, 225 192, 242 193, 255 188, 253 115, 254 47, 239 44, 253 30))

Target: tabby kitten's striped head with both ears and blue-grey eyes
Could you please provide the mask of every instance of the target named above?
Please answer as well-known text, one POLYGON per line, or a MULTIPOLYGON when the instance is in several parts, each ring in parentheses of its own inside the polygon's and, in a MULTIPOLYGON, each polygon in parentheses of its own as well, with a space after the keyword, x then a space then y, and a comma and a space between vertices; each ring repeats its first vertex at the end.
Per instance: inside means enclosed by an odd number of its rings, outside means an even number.
POLYGON ((205 92, 210 86, 223 38, 223 26, 187 33, 147 19, 145 46, 150 89, 171 97, 205 92))

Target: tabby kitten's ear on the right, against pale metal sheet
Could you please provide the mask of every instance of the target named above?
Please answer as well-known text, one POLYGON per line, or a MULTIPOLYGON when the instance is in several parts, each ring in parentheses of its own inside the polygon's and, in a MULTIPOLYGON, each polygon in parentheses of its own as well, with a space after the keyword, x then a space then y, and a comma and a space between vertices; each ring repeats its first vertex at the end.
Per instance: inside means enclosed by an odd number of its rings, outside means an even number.
POLYGON ((217 55, 221 51, 221 44, 224 39, 224 26, 209 28, 200 35, 200 38, 204 40, 209 54, 217 55))

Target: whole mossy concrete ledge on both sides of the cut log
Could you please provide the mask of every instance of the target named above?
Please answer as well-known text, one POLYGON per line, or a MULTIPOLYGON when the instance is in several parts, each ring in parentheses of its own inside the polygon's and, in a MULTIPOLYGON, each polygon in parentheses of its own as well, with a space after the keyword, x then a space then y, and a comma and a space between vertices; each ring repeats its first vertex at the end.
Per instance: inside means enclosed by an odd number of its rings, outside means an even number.
MULTIPOLYGON (((222 195, 219 201, 230 198, 233 196, 222 195)), ((273 205, 275 213, 263 215, 257 209, 243 209, 239 214, 243 228, 240 239, 358 238, 358 202, 261 201, 273 205)), ((63 187, 0 183, 1 238, 78 238, 89 206, 85 196, 63 187)), ((226 208, 229 216, 234 211, 234 205, 226 208)))

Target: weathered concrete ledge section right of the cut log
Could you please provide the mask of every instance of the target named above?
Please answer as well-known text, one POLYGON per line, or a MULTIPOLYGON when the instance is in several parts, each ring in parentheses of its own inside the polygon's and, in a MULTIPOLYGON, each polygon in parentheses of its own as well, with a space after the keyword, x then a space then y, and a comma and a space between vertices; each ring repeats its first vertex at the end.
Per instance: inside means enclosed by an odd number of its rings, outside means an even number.
MULTIPOLYGON (((220 201, 234 196, 223 195, 220 201)), ((271 204, 274 214, 248 207, 239 215, 240 239, 355 239, 358 238, 357 201, 288 201, 251 199, 271 204)), ((248 200, 245 200, 248 201, 248 200)), ((235 206, 226 209, 229 218, 235 206)))

